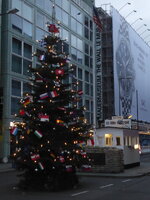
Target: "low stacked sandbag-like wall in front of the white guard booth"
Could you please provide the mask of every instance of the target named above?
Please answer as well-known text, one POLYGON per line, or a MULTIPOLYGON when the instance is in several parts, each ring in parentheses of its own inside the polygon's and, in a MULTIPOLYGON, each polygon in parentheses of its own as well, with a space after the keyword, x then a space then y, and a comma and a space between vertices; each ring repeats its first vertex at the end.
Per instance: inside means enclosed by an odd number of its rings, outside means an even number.
POLYGON ((118 173, 124 171, 123 150, 110 147, 87 147, 85 150, 89 156, 93 153, 99 156, 105 154, 105 164, 92 164, 92 172, 118 173))

